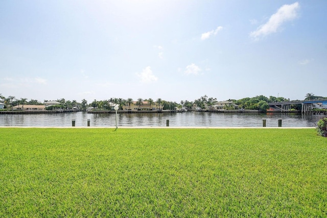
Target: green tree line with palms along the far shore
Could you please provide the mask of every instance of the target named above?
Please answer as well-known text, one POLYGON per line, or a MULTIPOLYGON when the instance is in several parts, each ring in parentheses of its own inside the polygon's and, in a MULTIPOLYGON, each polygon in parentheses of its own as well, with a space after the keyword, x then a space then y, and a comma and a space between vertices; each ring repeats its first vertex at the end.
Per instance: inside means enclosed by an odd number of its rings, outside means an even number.
MULTIPOLYGON (((313 93, 308 93, 305 96, 305 101, 306 100, 317 100, 317 99, 327 99, 326 97, 322 96, 316 96, 313 93)), ((39 102, 38 100, 31 99, 30 101, 27 101, 28 99, 26 98, 20 98, 16 99, 15 96, 8 96, 7 98, 0 94, 0 101, 5 104, 6 109, 12 109, 16 105, 22 105, 22 108, 24 108, 24 105, 43 105, 43 103, 39 102)), ((88 102, 83 99, 81 102, 77 102, 76 100, 65 100, 65 99, 57 99, 55 100, 59 102, 59 105, 55 106, 50 106, 47 109, 52 110, 53 107, 55 108, 62 108, 62 109, 71 109, 74 107, 77 107, 81 110, 85 110, 88 107, 93 107, 97 108, 100 110, 111 110, 112 105, 119 105, 120 110, 123 109, 123 106, 128 105, 130 106, 133 102, 133 99, 129 98, 127 100, 122 99, 122 98, 110 98, 108 100, 94 100, 91 103, 88 104, 88 102)), ((216 98, 208 97, 207 95, 201 96, 199 99, 195 99, 194 101, 188 101, 188 100, 182 100, 180 103, 177 102, 172 102, 172 101, 165 101, 162 99, 157 99, 154 101, 153 99, 142 99, 139 98, 136 101, 136 105, 139 107, 143 103, 143 101, 147 101, 151 105, 158 105, 162 106, 164 110, 174 110, 175 108, 185 108, 190 110, 192 107, 198 107, 201 109, 205 109, 209 106, 213 106, 216 103, 218 103, 216 98)), ((227 104, 224 109, 236 109, 235 105, 238 105, 238 108, 243 108, 243 109, 251 109, 251 110, 262 110, 266 111, 269 109, 268 103, 273 103, 273 102, 289 102, 290 99, 286 99, 284 97, 275 97, 275 96, 269 96, 266 97, 264 95, 257 95, 253 98, 243 98, 240 100, 235 100, 235 99, 229 99, 227 100, 228 102, 232 104, 227 104)), ((295 100, 299 101, 299 100, 295 100)), ((49 102, 49 100, 44 100, 44 102, 49 102)), ((295 110, 300 110, 298 105, 294 104, 293 108, 295 110)))

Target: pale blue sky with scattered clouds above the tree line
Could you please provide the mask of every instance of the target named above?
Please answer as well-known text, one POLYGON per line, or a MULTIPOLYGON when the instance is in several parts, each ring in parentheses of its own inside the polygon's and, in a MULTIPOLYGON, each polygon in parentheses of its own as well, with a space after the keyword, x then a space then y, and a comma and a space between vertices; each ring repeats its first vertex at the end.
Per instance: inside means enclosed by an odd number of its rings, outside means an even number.
POLYGON ((327 1, 2 1, 0 93, 327 96, 327 1))

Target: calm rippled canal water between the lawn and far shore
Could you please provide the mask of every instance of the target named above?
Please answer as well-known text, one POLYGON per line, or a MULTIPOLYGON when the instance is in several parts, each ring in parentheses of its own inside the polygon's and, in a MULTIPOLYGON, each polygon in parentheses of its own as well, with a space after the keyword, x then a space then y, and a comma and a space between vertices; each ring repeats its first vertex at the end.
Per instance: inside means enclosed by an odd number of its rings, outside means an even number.
MULTIPOLYGON (((325 115, 304 115, 293 113, 133 113, 118 114, 118 126, 124 127, 262 127, 266 119, 267 127, 278 127, 282 119, 283 127, 313 127, 325 115)), ((87 119, 93 127, 115 127, 115 114, 91 114, 86 112, 56 114, 0 114, 0 126, 5 127, 71 127, 75 119, 76 127, 86 127, 87 119)))

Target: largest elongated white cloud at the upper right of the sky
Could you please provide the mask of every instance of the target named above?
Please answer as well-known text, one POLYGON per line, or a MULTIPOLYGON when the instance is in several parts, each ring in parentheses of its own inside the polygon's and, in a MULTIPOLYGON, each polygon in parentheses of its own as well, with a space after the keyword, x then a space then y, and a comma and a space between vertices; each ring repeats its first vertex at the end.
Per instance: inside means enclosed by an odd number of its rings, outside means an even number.
POLYGON ((256 31, 251 32, 250 36, 259 38, 277 32, 284 22, 293 20, 298 16, 297 10, 299 7, 298 2, 291 5, 283 5, 275 14, 271 15, 268 22, 260 26, 256 31))

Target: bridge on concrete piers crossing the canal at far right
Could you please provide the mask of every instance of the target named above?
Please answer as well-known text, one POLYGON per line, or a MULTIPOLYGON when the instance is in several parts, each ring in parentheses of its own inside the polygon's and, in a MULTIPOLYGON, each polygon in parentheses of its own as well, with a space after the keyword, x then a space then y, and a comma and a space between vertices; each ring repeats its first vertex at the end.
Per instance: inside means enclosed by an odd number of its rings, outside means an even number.
POLYGON ((291 105, 302 105, 301 113, 309 113, 314 108, 314 104, 321 104, 327 106, 327 99, 325 100, 309 100, 309 101, 292 101, 292 102, 273 102, 268 103, 269 107, 276 107, 282 112, 291 111, 291 105))

